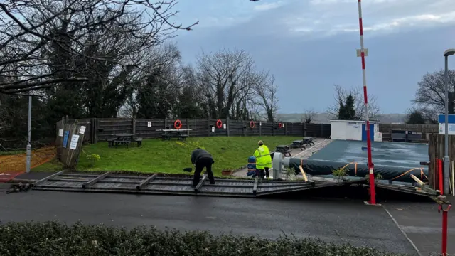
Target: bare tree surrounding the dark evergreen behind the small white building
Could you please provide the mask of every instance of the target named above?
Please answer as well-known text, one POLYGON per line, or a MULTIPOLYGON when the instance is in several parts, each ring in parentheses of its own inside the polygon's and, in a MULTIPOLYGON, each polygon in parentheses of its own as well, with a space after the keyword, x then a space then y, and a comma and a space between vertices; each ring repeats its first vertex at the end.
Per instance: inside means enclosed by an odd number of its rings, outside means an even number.
MULTIPOLYGON (((362 87, 351 87, 347 90, 340 85, 335 85, 333 104, 327 107, 327 114, 329 114, 331 119, 337 119, 340 108, 339 102, 344 102, 348 95, 352 95, 354 98, 355 119, 365 119, 365 104, 363 101, 362 87)), ((368 95, 368 117, 370 120, 373 120, 378 117, 378 114, 380 114, 380 107, 376 103, 376 97, 374 95, 368 95)))

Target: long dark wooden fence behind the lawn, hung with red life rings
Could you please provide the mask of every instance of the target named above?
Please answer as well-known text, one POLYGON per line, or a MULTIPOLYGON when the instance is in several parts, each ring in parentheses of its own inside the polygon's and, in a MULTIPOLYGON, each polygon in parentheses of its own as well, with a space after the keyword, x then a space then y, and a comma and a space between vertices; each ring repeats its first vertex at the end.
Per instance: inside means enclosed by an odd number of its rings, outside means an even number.
MULTIPOLYGON (((144 139, 161 138, 160 129, 172 128, 176 119, 69 119, 68 124, 78 124, 86 127, 86 143, 96 143, 114 138, 114 134, 132 133, 144 139)), ((302 124, 283 122, 254 122, 222 119, 222 127, 218 128, 216 119, 181 119, 181 129, 187 131, 188 137, 211 136, 302 136, 330 137, 330 124, 302 124)), ((62 121, 60 121, 62 122, 62 121)), ((66 121, 63 121, 66 122, 66 121)))

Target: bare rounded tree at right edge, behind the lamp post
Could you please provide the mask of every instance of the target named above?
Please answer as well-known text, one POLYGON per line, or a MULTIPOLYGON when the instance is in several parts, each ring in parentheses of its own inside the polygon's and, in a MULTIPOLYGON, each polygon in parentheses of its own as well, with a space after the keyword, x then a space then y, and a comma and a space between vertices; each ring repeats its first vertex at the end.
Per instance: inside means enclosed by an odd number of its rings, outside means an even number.
MULTIPOLYGON (((438 114, 445 110, 444 70, 427 73, 417 84, 413 102, 425 119, 437 124, 438 114)), ((449 70, 449 114, 455 113, 455 71, 449 70)))

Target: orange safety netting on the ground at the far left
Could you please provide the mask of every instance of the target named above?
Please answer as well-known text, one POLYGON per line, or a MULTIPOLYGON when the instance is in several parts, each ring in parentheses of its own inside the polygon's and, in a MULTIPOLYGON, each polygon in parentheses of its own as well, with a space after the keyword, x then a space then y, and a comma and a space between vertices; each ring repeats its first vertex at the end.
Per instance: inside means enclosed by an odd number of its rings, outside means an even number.
MULTIPOLYGON (((26 154, 0 156, 0 182, 11 180, 26 171, 26 154)), ((31 168, 40 166, 55 157, 55 147, 48 146, 31 151, 31 168)))

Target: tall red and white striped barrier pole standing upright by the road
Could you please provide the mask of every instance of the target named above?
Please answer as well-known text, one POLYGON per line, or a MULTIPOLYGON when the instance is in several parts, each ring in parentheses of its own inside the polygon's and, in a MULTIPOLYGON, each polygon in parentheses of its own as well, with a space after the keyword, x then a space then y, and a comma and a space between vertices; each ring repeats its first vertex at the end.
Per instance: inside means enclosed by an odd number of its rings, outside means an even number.
MULTIPOLYGON (((370 202, 376 204, 375 175, 373 173, 373 160, 371 159, 370 119, 368 117, 367 78, 365 73, 365 48, 363 48, 363 23, 362 0, 358 0, 358 25, 360 28, 360 57, 362 58, 363 98, 365 100, 365 129, 367 131, 368 169, 370 171, 370 202)), ((374 131, 373 131, 374 132, 374 131)))

